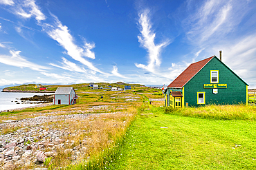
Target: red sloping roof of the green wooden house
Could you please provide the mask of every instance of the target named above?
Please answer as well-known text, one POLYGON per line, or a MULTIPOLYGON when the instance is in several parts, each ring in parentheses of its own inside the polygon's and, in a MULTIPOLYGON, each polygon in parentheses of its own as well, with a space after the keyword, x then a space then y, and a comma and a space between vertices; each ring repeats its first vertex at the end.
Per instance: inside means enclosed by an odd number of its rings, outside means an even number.
POLYGON ((192 63, 184 70, 168 87, 182 88, 190 79, 196 75, 214 56, 192 63))

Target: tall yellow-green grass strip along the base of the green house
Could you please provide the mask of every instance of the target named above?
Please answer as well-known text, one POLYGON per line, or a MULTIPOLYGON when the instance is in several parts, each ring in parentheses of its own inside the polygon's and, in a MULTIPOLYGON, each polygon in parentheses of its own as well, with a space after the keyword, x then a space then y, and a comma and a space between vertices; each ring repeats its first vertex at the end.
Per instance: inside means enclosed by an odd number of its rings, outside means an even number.
POLYGON ((256 107, 246 105, 206 105, 183 109, 165 108, 165 114, 215 120, 256 120, 256 107))

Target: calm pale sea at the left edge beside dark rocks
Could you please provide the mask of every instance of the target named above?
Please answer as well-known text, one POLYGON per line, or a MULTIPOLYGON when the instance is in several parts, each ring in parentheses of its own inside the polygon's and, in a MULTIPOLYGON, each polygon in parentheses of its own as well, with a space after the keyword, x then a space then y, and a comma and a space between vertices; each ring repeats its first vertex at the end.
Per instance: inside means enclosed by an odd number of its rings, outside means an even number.
POLYGON ((52 93, 7 93, 7 92, 2 92, 2 89, 3 88, 0 88, 0 111, 39 105, 39 104, 17 104, 17 103, 21 103, 21 100, 19 99, 23 97, 33 97, 34 95, 52 94, 52 93))

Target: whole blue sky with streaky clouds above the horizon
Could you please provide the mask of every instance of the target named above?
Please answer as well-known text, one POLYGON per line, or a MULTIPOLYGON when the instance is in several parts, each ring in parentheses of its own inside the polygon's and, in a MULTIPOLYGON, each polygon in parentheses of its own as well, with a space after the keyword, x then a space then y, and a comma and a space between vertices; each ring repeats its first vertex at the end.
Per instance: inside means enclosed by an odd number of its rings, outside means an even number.
POLYGON ((0 86, 169 85, 216 55, 256 88, 256 1, 0 0, 0 86))

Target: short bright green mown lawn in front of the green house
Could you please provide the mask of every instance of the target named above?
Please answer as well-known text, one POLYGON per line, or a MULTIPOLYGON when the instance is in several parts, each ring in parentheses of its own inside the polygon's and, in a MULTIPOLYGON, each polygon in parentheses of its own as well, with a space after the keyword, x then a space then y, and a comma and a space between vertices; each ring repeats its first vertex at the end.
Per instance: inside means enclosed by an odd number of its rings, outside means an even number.
POLYGON ((143 111, 111 169, 256 169, 256 123, 143 111))

